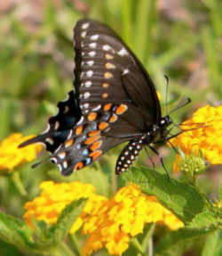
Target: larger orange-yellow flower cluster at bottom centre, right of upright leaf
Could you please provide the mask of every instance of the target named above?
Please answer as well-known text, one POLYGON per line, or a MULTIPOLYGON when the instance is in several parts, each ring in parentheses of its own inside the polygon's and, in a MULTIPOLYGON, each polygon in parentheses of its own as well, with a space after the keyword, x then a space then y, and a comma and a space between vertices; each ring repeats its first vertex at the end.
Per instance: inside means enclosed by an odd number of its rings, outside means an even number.
POLYGON ((97 211, 84 217, 83 235, 90 236, 83 246, 83 256, 103 246, 110 254, 121 255, 129 247, 131 236, 142 233, 150 222, 161 222, 172 230, 184 226, 155 196, 143 194, 133 184, 122 187, 97 211))

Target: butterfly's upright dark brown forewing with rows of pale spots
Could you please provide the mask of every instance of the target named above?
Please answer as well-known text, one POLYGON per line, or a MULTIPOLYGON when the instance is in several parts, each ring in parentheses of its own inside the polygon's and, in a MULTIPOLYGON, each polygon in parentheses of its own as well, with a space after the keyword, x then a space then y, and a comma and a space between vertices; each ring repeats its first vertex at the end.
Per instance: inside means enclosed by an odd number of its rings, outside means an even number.
POLYGON ((136 105, 150 123, 160 119, 152 80, 112 29, 83 19, 75 26, 74 38, 75 88, 83 113, 99 104, 126 103, 136 105))

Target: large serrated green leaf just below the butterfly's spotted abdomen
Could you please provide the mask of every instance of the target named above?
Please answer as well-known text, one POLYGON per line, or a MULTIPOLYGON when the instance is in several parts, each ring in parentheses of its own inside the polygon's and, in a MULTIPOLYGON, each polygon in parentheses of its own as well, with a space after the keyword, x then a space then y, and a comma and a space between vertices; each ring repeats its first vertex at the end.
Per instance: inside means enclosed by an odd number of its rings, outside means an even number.
POLYGON ((137 183, 146 194, 155 194, 160 202, 173 211, 186 224, 202 211, 207 211, 209 202, 194 186, 169 178, 154 169, 131 168, 124 178, 137 183))

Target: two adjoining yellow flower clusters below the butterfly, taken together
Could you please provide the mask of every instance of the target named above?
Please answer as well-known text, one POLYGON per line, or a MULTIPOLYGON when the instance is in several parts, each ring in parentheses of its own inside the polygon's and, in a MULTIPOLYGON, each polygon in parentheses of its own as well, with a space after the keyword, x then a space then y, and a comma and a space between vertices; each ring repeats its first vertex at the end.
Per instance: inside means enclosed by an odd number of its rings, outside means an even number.
POLYGON ((93 186, 79 182, 56 184, 51 181, 41 187, 42 194, 25 205, 24 218, 30 226, 33 217, 55 223, 68 203, 81 197, 89 198, 70 229, 70 233, 74 233, 83 227, 83 235, 89 235, 83 255, 91 255, 102 247, 110 254, 121 255, 127 250, 130 237, 142 233, 149 222, 162 222, 172 230, 184 226, 155 196, 143 194, 136 185, 124 186, 111 199, 94 194, 93 186))

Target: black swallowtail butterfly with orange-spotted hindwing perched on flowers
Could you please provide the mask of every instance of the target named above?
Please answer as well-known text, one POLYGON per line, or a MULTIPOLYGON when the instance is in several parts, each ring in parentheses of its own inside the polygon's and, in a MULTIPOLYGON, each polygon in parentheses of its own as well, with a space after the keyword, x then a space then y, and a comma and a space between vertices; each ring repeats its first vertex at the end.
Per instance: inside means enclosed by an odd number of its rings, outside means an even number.
POLYGON ((126 171, 144 146, 166 139, 170 116, 162 116, 147 70, 113 29, 82 19, 74 28, 75 79, 67 100, 44 133, 20 146, 42 143, 62 175, 96 161, 128 142, 115 173, 126 171))

